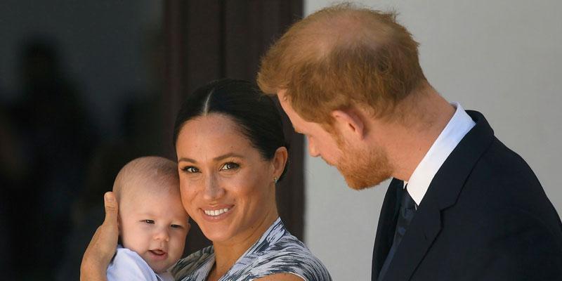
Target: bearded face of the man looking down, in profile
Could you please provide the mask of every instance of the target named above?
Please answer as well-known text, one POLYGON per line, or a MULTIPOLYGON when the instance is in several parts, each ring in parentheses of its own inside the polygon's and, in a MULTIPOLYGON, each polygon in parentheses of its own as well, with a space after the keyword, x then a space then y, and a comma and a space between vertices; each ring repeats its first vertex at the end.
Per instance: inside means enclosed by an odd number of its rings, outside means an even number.
POLYGON ((334 137, 320 124, 302 119, 285 98, 285 91, 279 91, 277 96, 295 131, 308 139, 308 154, 320 156, 327 164, 335 166, 350 188, 369 188, 391 177, 392 166, 382 146, 370 145, 368 149, 362 149, 349 143, 346 136, 334 137))

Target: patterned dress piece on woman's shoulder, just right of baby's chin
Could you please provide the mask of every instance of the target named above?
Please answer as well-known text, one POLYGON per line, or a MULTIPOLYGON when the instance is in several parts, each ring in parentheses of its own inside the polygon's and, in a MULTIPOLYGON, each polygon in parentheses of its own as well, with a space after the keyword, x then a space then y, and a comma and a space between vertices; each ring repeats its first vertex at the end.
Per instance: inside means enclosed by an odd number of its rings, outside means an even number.
POLYGON ((209 246, 180 259, 170 271, 174 275, 174 280, 183 280, 188 275, 194 277, 190 280, 205 280, 214 264, 214 259, 214 249, 209 246), (199 275, 202 275, 201 278, 197 277, 199 275))

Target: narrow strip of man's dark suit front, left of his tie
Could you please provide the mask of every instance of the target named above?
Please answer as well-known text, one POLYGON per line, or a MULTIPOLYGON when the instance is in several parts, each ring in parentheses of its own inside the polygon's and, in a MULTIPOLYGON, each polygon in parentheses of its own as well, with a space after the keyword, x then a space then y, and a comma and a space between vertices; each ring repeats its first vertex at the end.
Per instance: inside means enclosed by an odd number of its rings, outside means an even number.
POLYGON ((377 237, 374 239, 371 280, 377 280, 388 251, 392 247, 398 209, 400 208, 398 193, 400 188, 403 188, 403 184, 403 181, 393 178, 388 185, 388 190, 386 190, 381 215, 379 216, 379 225, 377 226, 377 237))

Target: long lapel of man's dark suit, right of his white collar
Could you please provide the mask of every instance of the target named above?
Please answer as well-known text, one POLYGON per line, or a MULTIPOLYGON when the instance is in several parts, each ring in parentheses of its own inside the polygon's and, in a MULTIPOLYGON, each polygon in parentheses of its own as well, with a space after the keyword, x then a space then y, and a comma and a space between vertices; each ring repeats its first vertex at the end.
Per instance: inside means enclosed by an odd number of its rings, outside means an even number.
MULTIPOLYGON (((492 128, 483 115, 469 110, 466 112, 476 122, 476 126, 464 136, 433 177, 384 280, 410 280, 440 233, 441 211, 457 202, 473 166, 494 139, 492 128)), ((378 235, 377 232, 377 237, 378 235)))

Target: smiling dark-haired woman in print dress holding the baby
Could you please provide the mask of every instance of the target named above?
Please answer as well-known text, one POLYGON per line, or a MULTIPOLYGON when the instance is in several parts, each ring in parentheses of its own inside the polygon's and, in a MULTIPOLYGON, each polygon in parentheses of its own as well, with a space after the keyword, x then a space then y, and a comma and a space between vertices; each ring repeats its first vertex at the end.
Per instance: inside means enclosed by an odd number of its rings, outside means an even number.
MULTIPOLYGON (((223 79, 185 100, 174 126, 183 207, 213 246, 171 268, 176 280, 331 280, 277 214, 287 163, 281 117, 249 82, 223 79)), ((84 280, 105 280, 117 244, 115 200, 86 249, 84 280)))

